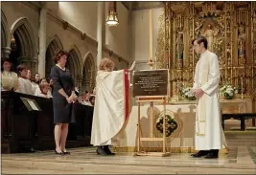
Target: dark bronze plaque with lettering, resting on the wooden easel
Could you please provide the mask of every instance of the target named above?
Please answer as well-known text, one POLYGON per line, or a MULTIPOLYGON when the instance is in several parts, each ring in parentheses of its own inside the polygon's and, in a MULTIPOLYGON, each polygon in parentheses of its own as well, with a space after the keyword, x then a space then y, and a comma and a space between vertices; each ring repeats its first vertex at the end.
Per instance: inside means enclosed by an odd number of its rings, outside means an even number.
POLYGON ((133 72, 133 97, 167 96, 168 70, 147 70, 133 72))

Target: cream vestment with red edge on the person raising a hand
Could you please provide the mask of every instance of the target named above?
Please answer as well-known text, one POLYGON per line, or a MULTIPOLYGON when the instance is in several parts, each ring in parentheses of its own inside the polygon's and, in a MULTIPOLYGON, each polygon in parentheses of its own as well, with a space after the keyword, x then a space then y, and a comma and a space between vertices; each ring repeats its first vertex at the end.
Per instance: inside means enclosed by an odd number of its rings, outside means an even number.
POLYGON ((128 70, 99 71, 96 77, 91 144, 111 144, 128 120, 128 70))

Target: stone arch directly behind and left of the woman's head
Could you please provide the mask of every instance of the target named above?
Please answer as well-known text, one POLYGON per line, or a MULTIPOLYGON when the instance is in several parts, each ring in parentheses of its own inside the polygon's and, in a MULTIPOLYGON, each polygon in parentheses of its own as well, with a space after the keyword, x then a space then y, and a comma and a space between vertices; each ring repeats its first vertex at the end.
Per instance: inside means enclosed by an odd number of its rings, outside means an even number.
POLYGON ((49 77, 51 68, 55 65, 54 56, 59 50, 63 49, 63 45, 57 34, 50 37, 47 41, 47 49, 45 56, 45 77, 49 77))

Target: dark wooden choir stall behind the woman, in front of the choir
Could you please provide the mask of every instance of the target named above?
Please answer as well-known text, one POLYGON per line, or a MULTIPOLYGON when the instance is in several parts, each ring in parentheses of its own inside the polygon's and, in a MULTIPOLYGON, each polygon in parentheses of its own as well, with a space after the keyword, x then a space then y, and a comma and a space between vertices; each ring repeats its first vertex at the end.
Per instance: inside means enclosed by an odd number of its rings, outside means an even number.
MULTIPOLYGON (((1 96, 2 153, 54 150, 53 99, 5 91, 1 96)), ((67 146, 90 145, 93 107, 74 103, 74 112, 67 146)))

